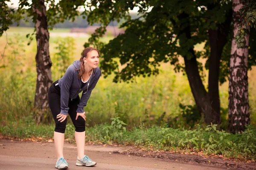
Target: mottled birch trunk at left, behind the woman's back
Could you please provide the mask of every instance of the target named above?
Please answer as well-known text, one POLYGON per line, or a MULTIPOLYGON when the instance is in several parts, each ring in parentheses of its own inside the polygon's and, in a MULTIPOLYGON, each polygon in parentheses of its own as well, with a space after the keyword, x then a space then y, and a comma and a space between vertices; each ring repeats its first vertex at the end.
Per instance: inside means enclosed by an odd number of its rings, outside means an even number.
POLYGON ((37 81, 35 89, 35 120, 39 124, 43 114, 49 109, 47 92, 52 84, 51 66, 49 56, 49 31, 47 26, 46 6, 44 0, 32 1, 36 19, 37 54, 35 56, 37 81))

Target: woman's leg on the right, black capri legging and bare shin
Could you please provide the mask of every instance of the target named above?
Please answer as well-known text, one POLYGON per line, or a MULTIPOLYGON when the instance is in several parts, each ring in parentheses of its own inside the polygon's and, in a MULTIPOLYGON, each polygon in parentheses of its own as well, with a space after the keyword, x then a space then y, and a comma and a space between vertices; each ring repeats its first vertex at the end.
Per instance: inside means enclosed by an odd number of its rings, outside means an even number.
POLYGON ((77 97, 76 99, 73 99, 72 102, 70 101, 69 114, 74 126, 76 127, 75 138, 76 138, 77 154, 79 158, 83 158, 84 143, 85 143, 85 121, 81 116, 79 116, 76 119, 76 109, 77 109, 77 105, 79 104, 79 101, 80 101, 79 97, 77 97))

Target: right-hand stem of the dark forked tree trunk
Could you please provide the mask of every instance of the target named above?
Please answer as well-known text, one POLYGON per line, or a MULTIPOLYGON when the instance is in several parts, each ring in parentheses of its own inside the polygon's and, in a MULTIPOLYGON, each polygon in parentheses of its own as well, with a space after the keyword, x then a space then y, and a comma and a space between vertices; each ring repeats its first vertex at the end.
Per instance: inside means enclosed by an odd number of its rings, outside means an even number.
POLYGON ((232 20, 232 10, 227 12, 226 20, 223 24, 218 25, 217 30, 209 30, 209 43, 211 53, 209 57, 209 79, 207 99, 211 107, 206 108, 204 120, 207 124, 221 123, 220 114, 220 97, 219 97, 219 71, 221 54, 227 43, 227 35, 230 30, 232 20))

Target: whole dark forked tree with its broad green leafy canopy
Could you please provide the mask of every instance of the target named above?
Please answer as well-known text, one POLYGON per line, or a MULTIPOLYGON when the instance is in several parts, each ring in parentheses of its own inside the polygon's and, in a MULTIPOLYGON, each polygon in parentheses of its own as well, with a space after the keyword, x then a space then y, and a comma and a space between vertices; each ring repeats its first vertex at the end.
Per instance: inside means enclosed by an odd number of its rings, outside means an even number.
MULTIPOLYGON (((140 75, 158 74, 160 62, 170 62, 175 65, 175 71, 186 72, 195 103, 204 113, 205 122, 221 123, 218 82, 220 68, 227 70, 220 67, 220 59, 230 32, 231 6, 221 8, 215 0, 97 3, 98 0, 91 1, 91 6, 97 7, 88 14, 88 22, 93 24, 100 20, 104 26, 84 46, 93 44, 101 49, 105 76, 114 71, 114 82, 133 81, 140 75), (134 7, 139 7, 141 17, 137 19, 128 17, 128 10, 134 7), (99 42, 105 26, 113 19, 124 17, 128 19, 121 26, 126 28, 125 34, 108 44, 99 42), (206 42, 205 51, 194 51, 194 45, 202 42, 206 42), (179 56, 183 57, 185 66, 180 65, 179 56), (201 56, 208 59, 208 92, 200 76, 203 66, 197 61, 201 56), (120 59, 125 68, 119 71, 114 58, 120 59)), ((225 76, 227 74, 221 74, 221 82, 225 81, 225 76)))

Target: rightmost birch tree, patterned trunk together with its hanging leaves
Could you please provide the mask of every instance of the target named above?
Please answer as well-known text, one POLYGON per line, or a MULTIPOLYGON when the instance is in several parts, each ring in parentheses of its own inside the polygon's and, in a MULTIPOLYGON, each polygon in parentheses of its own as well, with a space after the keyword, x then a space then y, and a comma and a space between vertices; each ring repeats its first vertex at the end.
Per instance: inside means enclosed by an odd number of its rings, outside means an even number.
MULTIPOLYGON (((223 0, 221 4, 229 2, 231 0, 223 0)), ((232 0, 232 4, 233 39, 230 56, 228 126, 230 132, 240 133, 245 130, 246 125, 250 124, 247 71, 251 65, 255 65, 255 59, 248 53, 253 56, 256 53, 253 48, 255 47, 256 1, 232 0)))

